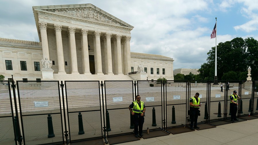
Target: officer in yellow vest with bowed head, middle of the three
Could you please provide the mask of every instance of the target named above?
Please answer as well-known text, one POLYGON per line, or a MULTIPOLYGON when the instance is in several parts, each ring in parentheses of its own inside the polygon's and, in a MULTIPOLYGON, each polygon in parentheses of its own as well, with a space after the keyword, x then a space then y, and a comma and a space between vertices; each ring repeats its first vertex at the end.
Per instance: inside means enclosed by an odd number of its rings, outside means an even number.
POLYGON ((201 106, 200 104, 200 98, 199 97, 199 93, 196 93, 195 96, 190 98, 190 117, 191 117, 191 123, 190 123, 190 129, 194 130, 194 128, 199 129, 200 127, 197 126, 197 119, 198 119, 198 115, 200 113, 199 111, 199 107, 201 106), (193 127, 193 123, 194 123, 194 127, 193 127))

